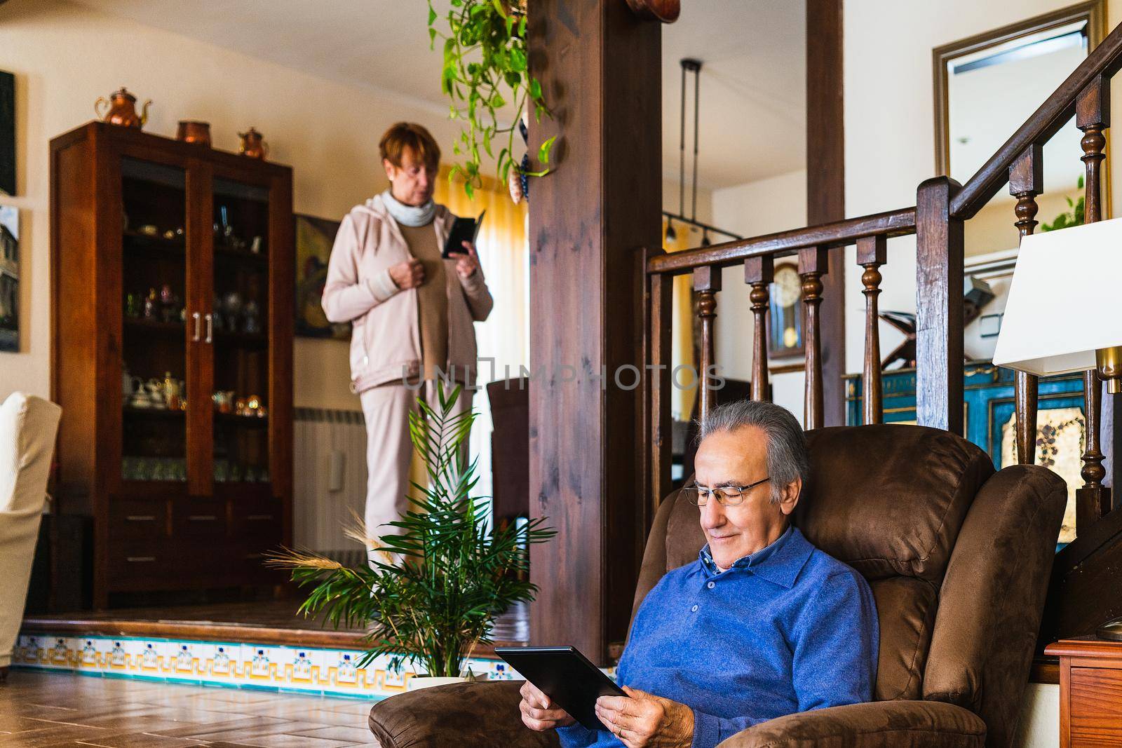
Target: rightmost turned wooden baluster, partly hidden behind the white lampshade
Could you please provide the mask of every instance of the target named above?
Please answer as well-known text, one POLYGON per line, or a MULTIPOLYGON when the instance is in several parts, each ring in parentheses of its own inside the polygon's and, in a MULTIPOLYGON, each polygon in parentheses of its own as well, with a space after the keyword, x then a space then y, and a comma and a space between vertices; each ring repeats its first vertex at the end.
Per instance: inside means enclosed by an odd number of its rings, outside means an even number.
MULTIPOLYGON (((1103 147, 1106 137, 1103 130, 1110 127, 1111 85, 1110 79, 1100 75, 1083 92, 1075 103, 1075 124, 1083 130, 1083 163, 1086 166, 1084 186, 1084 222, 1093 223, 1102 219, 1100 188, 1103 147)), ((1057 258, 1063 261, 1063 258, 1057 258)), ((1094 321, 1102 323, 1102 320, 1094 321)), ((1088 369, 1083 377, 1083 394, 1086 400, 1087 433, 1083 452, 1083 488, 1076 491, 1075 532, 1082 535, 1100 517, 1111 510, 1110 489, 1103 486, 1106 470, 1103 468, 1103 452, 1098 446, 1102 416, 1103 382, 1095 369, 1088 369)))

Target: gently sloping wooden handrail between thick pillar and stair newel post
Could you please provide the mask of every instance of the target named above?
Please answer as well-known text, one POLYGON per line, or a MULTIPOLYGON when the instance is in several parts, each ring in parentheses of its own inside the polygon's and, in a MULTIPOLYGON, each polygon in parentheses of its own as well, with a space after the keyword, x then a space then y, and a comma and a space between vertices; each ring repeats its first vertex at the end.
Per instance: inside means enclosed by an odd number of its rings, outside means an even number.
POLYGON ((646 264, 646 271, 683 274, 693 268, 729 267, 749 257, 792 255, 810 247, 845 247, 863 237, 902 237, 916 232, 916 209, 901 207, 884 213, 863 215, 845 221, 821 223, 804 229, 769 233, 762 237, 726 241, 711 247, 659 255, 646 264))

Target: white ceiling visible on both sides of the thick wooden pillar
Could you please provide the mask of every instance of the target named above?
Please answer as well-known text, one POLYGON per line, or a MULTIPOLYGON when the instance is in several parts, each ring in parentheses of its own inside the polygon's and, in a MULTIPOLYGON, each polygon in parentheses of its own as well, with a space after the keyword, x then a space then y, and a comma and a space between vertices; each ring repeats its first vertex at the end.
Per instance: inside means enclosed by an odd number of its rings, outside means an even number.
MULTIPOLYGON (((76 1, 324 79, 389 92, 436 117, 448 112, 440 52, 429 50, 423 0, 76 1)), ((678 22, 663 27, 664 173, 678 178, 682 57, 703 62, 699 186, 725 187, 803 168, 804 3, 686 0, 683 6, 678 22)), ((689 96, 692 107, 692 87, 689 96)), ((689 159, 689 117, 687 127, 689 159)), ((688 163, 687 182, 690 169, 688 163)))

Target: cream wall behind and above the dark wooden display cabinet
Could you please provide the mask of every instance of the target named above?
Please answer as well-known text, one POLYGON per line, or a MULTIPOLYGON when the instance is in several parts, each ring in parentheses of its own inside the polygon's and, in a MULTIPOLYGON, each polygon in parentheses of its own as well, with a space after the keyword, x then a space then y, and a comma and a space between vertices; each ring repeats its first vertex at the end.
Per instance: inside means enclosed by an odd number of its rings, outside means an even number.
MULTIPOLYGON (((434 53, 435 54, 435 53, 434 53)), ((145 130, 174 136, 181 119, 205 120, 217 148, 237 132, 265 133, 269 158, 294 168, 295 210, 339 218, 385 187, 378 138, 410 119, 450 144, 447 111, 348 87, 68 3, 0 6, 0 70, 16 74, 18 196, 22 209, 21 350, 0 353, 0 399, 49 394, 50 288, 47 142, 93 118, 93 101, 121 85, 155 101, 145 130)), ((347 343, 297 338, 298 406, 357 408, 347 343)))

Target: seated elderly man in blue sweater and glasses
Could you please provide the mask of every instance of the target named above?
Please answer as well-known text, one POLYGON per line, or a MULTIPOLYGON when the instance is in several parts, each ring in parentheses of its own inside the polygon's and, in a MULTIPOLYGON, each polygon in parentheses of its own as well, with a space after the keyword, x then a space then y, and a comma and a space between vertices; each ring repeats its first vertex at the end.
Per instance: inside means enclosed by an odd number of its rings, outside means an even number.
POLYGON ((799 423, 770 403, 720 406, 695 464, 683 491, 708 544, 643 600, 617 671, 627 696, 597 701, 608 731, 576 723, 527 682, 531 729, 555 729, 567 748, 708 748, 756 722, 872 699, 868 584, 789 520, 809 471, 799 423))

